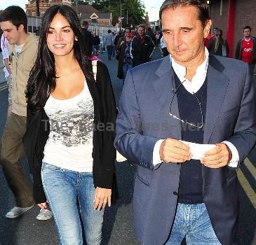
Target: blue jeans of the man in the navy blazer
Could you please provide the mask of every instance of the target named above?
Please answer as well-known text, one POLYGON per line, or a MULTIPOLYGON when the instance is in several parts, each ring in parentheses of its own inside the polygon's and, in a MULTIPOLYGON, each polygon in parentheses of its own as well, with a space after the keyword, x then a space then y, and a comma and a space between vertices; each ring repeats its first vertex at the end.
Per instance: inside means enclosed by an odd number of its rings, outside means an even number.
POLYGON ((205 204, 177 205, 173 228, 166 245, 180 245, 184 237, 187 245, 221 245, 210 223, 205 204))

